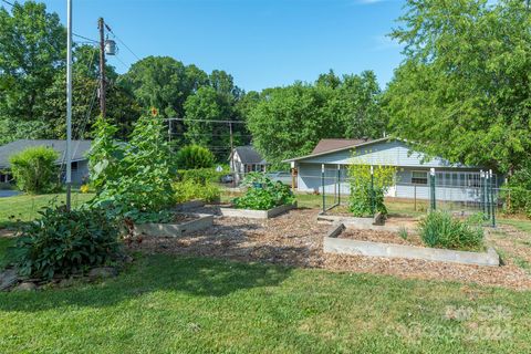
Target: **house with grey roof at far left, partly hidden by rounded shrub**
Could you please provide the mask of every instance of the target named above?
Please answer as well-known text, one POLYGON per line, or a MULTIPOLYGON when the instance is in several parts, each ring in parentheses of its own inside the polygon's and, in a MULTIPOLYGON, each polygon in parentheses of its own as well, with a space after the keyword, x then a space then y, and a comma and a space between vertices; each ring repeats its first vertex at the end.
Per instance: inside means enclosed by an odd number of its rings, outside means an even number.
MULTIPOLYGON (((88 160, 86 155, 91 149, 91 140, 72 140, 72 184, 74 185, 82 185, 83 181, 88 178, 88 160)), ((34 146, 53 148, 59 155, 55 163, 58 165, 64 165, 66 140, 14 140, 0 146, 0 183, 8 183, 12 179, 12 176, 9 173, 9 158, 28 147, 34 146)), ((64 170, 65 167, 63 166, 63 174, 64 170)))

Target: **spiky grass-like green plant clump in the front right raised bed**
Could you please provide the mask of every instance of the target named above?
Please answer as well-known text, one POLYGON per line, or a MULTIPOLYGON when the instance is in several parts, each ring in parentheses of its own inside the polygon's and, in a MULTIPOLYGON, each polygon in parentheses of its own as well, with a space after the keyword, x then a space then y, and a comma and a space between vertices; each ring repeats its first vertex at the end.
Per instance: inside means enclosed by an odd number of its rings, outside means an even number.
POLYGON ((479 250, 483 243, 481 218, 460 220, 449 212, 431 211, 419 222, 419 233, 428 247, 479 250))

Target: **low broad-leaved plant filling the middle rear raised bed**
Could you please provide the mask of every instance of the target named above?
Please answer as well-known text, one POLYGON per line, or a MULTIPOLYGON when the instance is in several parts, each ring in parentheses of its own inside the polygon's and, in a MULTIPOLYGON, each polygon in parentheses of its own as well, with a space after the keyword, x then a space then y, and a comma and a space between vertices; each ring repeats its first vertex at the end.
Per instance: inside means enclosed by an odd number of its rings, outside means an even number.
POLYGON ((290 187, 280 181, 273 183, 261 174, 249 174, 242 185, 248 187, 246 194, 232 200, 240 209, 268 210, 295 201, 290 187))

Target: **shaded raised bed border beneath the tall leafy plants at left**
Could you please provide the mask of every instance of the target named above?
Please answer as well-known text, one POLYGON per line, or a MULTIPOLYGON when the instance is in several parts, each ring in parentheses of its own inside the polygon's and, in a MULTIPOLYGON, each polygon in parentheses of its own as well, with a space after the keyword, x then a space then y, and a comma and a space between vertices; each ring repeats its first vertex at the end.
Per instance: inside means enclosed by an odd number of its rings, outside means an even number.
POLYGON ((214 215, 196 214, 197 219, 183 223, 140 223, 135 226, 136 233, 157 237, 180 237, 212 226, 214 215))

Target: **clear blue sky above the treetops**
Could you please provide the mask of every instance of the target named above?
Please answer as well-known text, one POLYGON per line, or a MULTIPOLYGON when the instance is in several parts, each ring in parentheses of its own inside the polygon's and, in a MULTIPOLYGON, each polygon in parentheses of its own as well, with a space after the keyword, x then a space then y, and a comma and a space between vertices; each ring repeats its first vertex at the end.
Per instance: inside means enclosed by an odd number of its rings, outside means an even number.
MULTIPOLYGON (((45 0, 65 22, 66 0, 45 0)), ((246 91, 374 70, 385 85, 400 48, 385 35, 402 0, 73 0, 74 32, 97 39, 104 17, 136 55, 226 70, 246 91)), ((119 45, 119 43, 118 43, 119 45)), ((136 61, 123 45, 110 62, 136 61)))

